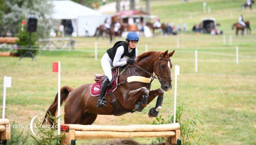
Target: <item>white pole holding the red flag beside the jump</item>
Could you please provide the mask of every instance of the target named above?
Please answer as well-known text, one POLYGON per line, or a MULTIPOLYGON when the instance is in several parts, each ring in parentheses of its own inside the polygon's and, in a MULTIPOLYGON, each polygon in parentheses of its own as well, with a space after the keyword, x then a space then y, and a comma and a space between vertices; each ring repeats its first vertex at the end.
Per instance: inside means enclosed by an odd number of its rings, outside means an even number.
POLYGON ((58 135, 61 134, 61 61, 58 61, 58 135))

